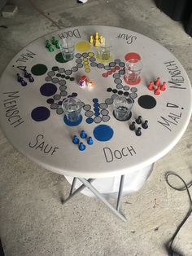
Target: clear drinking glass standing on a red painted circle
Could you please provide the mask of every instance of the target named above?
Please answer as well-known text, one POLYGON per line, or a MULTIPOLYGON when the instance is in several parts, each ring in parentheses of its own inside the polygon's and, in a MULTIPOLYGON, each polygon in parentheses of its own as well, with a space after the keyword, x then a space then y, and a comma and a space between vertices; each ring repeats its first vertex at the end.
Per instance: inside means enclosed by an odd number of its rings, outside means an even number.
POLYGON ((140 59, 127 60, 125 64, 124 80, 129 85, 137 85, 141 81, 140 73, 142 72, 142 61, 140 59))

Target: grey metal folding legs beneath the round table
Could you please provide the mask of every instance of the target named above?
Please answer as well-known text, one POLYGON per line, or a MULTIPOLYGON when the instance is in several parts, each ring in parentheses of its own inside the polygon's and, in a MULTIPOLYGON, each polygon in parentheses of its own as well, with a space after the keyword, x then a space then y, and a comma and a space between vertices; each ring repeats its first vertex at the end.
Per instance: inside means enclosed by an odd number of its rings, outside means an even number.
POLYGON ((67 201, 69 201, 73 196, 76 195, 76 193, 81 192, 84 188, 89 188, 89 190, 91 192, 94 193, 95 196, 98 197, 98 199, 100 199, 100 201, 103 201, 103 203, 105 205, 107 205, 107 207, 114 213, 116 214, 117 217, 119 217, 121 220, 123 220, 124 222, 127 221, 127 219, 124 217, 124 215, 120 214, 120 201, 122 198, 122 192, 123 192, 123 188, 124 188, 124 175, 121 175, 120 177, 120 188, 119 188, 119 192, 118 192, 118 197, 117 197, 117 201, 116 201, 116 208, 113 207, 107 200, 106 198, 100 193, 98 192, 98 190, 96 188, 94 188, 94 186, 91 184, 94 181, 94 179, 84 179, 84 178, 77 178, 75 177, 72 180, 72 187, 69 193, 69 196, 66 200, 64 200, 62 203, 65 204, 67 201), (82 183, 82 185, 77 188, 75 190, 75 186, 76 186, 76 179, 79 179, 82 183))

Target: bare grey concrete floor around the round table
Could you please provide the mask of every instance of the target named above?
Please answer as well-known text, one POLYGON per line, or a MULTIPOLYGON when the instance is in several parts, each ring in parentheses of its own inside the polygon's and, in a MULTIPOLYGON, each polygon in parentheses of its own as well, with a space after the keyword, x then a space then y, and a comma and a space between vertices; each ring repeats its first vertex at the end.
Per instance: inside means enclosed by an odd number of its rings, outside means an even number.
MULTIPOLYGON (((152 0, 39 0, 37 6, 60 27, 105 24, 143 33, 181 61, 192 79, 191 38, 180 23, 155 7, 152 0), (57 2, 57 3, 56 3, 57 2)), ((0 73, 26 44, 57 30, 39 15, 28 1, 15 1, 19 12, 13 19, 0 18, 0 73)), ((125 196, 122 212, 127 223, 116 218, 100 201, 67 195, 66 179, 43 170, 20 155, 0 131, 0 237, 7 256, 128 256, 167 255, 165 243, 171 238, 189 209, 186 192, 177 192, 165 183, 168 170, 192 176, 192 123, 177 146, 155 164, 143 188, 125 196)), ((191 188, 190 188, 191 191, 191 188)), ((192 255, 192 218, 185 223, 174 246, 192 255)))

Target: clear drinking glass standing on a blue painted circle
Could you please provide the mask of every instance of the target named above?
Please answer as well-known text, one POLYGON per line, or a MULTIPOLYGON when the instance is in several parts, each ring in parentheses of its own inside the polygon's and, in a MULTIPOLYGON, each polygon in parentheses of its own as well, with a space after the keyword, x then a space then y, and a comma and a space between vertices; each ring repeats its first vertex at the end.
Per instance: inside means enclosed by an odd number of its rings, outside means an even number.
POLYGON ((77 98, 68 98, 63 100, 63 112, 68 121, 76 122, 81 118, 82 102, 77 98))

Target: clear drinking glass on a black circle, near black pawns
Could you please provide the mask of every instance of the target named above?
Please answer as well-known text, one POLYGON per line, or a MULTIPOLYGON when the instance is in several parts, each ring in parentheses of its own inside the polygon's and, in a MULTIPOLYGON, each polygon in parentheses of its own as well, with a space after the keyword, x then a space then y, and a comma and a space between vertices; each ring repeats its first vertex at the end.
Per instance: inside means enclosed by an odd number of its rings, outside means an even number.
POLYGON ((117 120, 126 121, 133 108, 133 99, 124 96, 117 97, 113 101, 114 116, 117 120))

